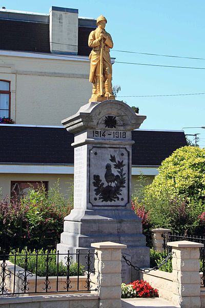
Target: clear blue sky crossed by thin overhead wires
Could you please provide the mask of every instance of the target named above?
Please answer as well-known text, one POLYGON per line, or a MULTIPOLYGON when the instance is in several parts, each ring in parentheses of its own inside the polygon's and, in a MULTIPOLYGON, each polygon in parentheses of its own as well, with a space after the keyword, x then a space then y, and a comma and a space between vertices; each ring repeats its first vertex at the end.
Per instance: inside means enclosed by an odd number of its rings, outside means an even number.
MULTIPOLYGON (((77 8, 79 16, 94 18, 103 14, 108 20, 106 30, 113 37, 111 56, 116 61, 205 68, 205 60, 116 51, 205 58, 204 0, 3 0, 1 6, 40 13, 49 13, 51 6, 77 8)), ((204 77, 205 69, 113 65, 113 85, 121 86, 120 96, 203 93, 204 77)), ((147 115, 140 127, 143 129, 205 126, 205 95, 119 99, 138 106, 140 114, 147 115)), ((185 133, 200 133, 199 145, 205 147, 205 129, 185 129, 185 133)))

